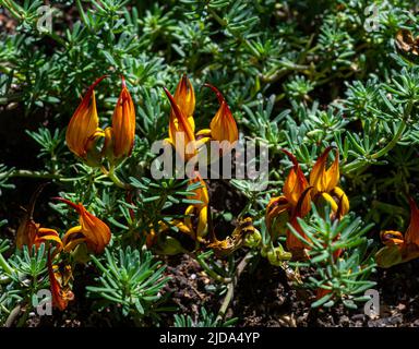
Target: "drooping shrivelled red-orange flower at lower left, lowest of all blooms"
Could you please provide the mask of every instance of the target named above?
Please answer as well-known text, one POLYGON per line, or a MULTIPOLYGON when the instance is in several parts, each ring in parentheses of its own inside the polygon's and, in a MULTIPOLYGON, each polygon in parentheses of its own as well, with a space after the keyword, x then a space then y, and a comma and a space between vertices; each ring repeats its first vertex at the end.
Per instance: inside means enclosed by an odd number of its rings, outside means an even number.
POLYGON ((70 281, 73 278, 71 266, 65 265, 61 268, 52 266, 51 256, 48 251, 48 276, 52 294, 52 305, 63 311, 69 304, 69 301, 74 299, 74 293, 71 291, 70 281))

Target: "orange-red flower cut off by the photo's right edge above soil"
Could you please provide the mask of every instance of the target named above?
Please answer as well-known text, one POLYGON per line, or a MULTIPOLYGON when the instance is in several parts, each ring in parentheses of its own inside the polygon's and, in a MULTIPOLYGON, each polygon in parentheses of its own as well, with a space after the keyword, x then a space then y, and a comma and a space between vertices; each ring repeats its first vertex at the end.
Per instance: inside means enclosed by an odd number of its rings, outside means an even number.
POLYGON ((375 261, 382 268, 419 257, 419 209, 414 200, 409 198, 409 203, 410 224, 405 234, 393 230, 380 233, 385 246, 375 254, 375 261))

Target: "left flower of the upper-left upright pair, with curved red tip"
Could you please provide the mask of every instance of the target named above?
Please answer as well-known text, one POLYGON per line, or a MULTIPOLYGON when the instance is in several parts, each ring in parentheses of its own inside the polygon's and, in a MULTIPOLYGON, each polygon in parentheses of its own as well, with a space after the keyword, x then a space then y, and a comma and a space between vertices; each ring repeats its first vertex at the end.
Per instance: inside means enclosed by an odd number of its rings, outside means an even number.
POLYGON ((99 129, 94 88, 105 77, 106 75, 99 77, 88 87, 82 103, 74 111, 65 133, 70 151, 89 166, 99 166, 100 161, 100 154, 96 151, 95 144, 99 136, 104 136, 104 131, 99 129))

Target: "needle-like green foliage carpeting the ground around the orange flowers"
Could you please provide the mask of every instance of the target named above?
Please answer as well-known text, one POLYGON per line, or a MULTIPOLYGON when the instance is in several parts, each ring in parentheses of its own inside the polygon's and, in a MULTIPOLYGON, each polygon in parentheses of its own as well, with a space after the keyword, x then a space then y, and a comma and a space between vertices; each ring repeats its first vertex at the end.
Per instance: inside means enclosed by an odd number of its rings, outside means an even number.
MULTIPOLYGON (((300 280, 298 270, 309 274, 300 281, 313 297, 330 291, 312 306, 342 301, 355 308, 366 300, 363 291, 374 286, 372 254, 381 246, 380 231, 405 231, 407 197, 419 198, 419 49, 412 44, 403 52, 398 41, 402 28, 412 37, 419 34, 411 1, 50 3, 51 12, 45 12, 43 1, 0 0, 0 21, 4 17, 8 24, 0 33, 0 136, 5 140, 0 215, 8 218, 0 224, 0 323, 17 316, 17 324, 25 325, 34 294, 53 288, 49 243, 12 248, 22 221, 16 208, 31 208, 28 197, 46 181, 53 196, 83 203, 109 225, 111 240, 104 255, 80 244, 60 251, 53 262, 71 266, 73 289, 88 292, 88 306, 117 310, 111 313, 117 320, 161 325, 159 313, 170 308, 165 264, 177 253, 196 260, 214 281, 205 291, 224 300, 220 310, 202 306, 192 317, 177 314, 176 326, 234 325, 225 321, 225 308, 242 269, 256 255, 287 276, 291 270, 294 284, 300 280), (367 11, 371 5, 376 14, 367 11), (52 31, 43 22, 48 14, 52 31), (266 190, 254 192, 242 179, 204 183, 208 218, 200 239, 191 231, 196 214, 188 208, 205 204, 191 197, 202 183, 152 177, 156 154, 151 147, 168 136, 171 110, 163 87, 175 92, 182 74, 195 91, 196 130, 207 128, 217 111, 216 97, 201 88, 210 83, 224 95, 240 137, 266 144, 270 152, 266 190), (135 109, 132 152, 115 164, 105 159, 105 170, 74 157, 65 139, 80 97, 103 75, 108 77, 95 88, 100 127, 111 127, 120 75, 135 109), (318 200, 294 222, 292 215, 282 216, 280 233, 272 233, 266 207, 284 194, 295 166, 283 151, 296 157, 309 178, 330 147, 338 152, 338 181, 350 212, 339 217, 318 200), (241 226, 249 217, 251 224, 241 226), (296 254, 287 249, 287 234, 308 243, 310 258, 290 261, 296 254), (13 313, 16 306, 23 314, 13 313)), ((100 137, 95 151, 105 153, 100 137)), ((45 194, 38 201, 36 221, 63 240, 80 215, 45 194)))

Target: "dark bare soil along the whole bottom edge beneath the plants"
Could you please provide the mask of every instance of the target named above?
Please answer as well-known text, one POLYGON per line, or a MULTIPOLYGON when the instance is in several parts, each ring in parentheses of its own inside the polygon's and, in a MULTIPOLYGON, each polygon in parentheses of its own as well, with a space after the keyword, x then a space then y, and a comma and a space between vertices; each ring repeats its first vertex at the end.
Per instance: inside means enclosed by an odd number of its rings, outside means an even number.
MULTIPOLYGON (((170 294, 166 305, 172 305, 176 310, 163 314, 161 325, 172 326, 175 314, 188 314, 196 321, 201 306, 216 314, 223 297, 217 294, 216 285, 196 261, 184 254, 170 257, 167 263, 167 275, 171 280, 165 289, 170 294)), ((311 309, 313 292, 291 287, 282 269, 260 260, 258 265, 249 266, 241 275, 226 317, 237 317, 237 326, 419 327, 419 277, 414 272, 418 266, 419 261, 378 272, 375 279, 380 280, 376 287, 381 298, 380 315, 370 318, 364 315, 362 306, 356 311, 343 305, 330 310, 311 309)), ((41 318, 32 314, 27 324, 60 327, 133 326, 133 323, 116 315, 110 309, 101 313, 91 312, 92 300, 84 297, 84 286, 83 281, 76 285, 74 291, 77 299, 64 312, 55 312, 53 316, 41 318)))

